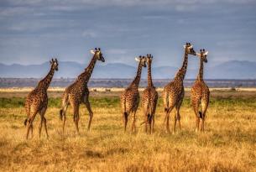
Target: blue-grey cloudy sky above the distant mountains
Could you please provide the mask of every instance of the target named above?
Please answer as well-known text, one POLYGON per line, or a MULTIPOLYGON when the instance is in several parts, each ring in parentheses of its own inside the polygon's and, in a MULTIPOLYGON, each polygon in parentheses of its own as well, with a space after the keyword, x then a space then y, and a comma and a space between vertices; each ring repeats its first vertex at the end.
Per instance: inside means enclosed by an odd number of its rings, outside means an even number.
MULTIPOLYGON (((185 42, 209 50, 209 64, 256 61, 255 0, 1 0, 0 62, 40 64, 51 56, 87 63, 179 66, 185 42)), ((192 58, 191 58, 192 59, 192 58)), ((191 63, 196 63, 195 59, 191 63)))

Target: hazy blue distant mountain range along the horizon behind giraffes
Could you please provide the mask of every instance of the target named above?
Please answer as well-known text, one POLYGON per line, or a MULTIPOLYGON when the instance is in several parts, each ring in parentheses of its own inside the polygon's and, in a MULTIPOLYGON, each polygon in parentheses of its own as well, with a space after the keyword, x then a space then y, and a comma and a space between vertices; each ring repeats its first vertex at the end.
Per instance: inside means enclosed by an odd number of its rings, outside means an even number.
MULTIPOLYGON (((55 73, 55 78, 76 78, 86 65, 81 65, 71 61, 60 61, 59 71, 55 73)), ((125 65, 122 63, 112 63, 102 65, 98 63, 93 71, 93 78, 133 78, 136 74, 137 66, 125 65)), ((0 63, 0 77, 15 78, 41 78, 50 70, 49 62, 41 65, 4 65, 0 63)), ((156 79, 166 79, 175 76, 178 67, 159 66, 154 67, 152 75, 156 79)), ((187 70, 186 78, 196 77, 198 69, 187 70)), ((146 78, 147 70, 144 70, 143 77, 146 78)), ((205 67, 205 78, 207 79, 256 79, 256 62, 231 60, 220 65, 205 67)))

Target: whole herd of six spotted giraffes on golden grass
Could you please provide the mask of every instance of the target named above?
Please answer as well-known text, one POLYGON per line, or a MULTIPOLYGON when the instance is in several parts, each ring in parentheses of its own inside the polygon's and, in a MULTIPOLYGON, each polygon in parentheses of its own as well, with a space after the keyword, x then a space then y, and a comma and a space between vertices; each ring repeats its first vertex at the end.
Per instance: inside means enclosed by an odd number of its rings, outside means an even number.
MULTIPOLYGON (((100 48, 95 48, 95 50, 91 50, 92 58, 89 65, 86 69, 76 78, 76 81, 68 86, 62 96, 62 105, 60 109, 60 120, 62 120, 62 133, 64 134, 65 130, 65 114, 69 105, 71 105, 71 109, 73 112, 73 120, 76 125, 76 132, 79 133, 79 107, 81 103, 86 105, 86 109, 89 112, 89 122, 87 129, 91 128, 91 120, 93 117, 93 112, 91 111, 91 105, 89 102, 89 89, 87 87, 87 83, 91 78, 91 73, 96 65, 96 62, 102 61, 105 62, 105 59, 102 55, 102 51, 100 48)), ((194 85, 191 87, 191 105, 195 112, 196 116, 196 132, 199 131, 199 124, 201 121, 201 132, 204 131, 204 122, 206 117, 206 110, 209 104, 209 96, 210 91, 208 86, 203 80, 203 65, 207 62, 206 56, 208 52, 206 50, 200 50, 199 53, 193 49, 193 45, 191 43, 186 43, 184 45, 184 60, 180 69, 175 74, 175 78, 173 81, 170 81, 165 87, 163 91, 163 102, 164 102, 164 112, 165 112, 165 121, 164 125, 166 128, 166 132, 170 133, 170 112, 175 108, 175 116, 174 116, 174 127, 172 133, 175 133, 176 122, 179 123, 180 126, 180 107, 183 102, 183 98, 185 95, 183 81, 185 78, 185 73, 188 65, 188 57, 189 55, 198 56, 200 59, 200 68, 198 72, 198 76, 194 85), (200 110, 201 109, 201 110, 200 110), (165 124, 166 123, 166 124, 165 124)), ((144 112, 144 122, 141 124, 145 125, 145 133, 153 133, 154 132, 154 116, 156 111, 156 106, 158 102, 158 92, 154 87, 151 75, 151 65, 153 62, 153 55, 145 55, 138 56, 135 58, 138 61, 138 70, 137 75, 135 76, 132 83, 123 91, 120 96, 120 105, 121 111, 123 114, 123 123, 124 123, 124 132, 127 130, 128 124, 128 116, 131 114, 133 118, 132 123, 132 133, 136 132, 136 112, 139 106, 139 92, 138 86, 141 78, 141 73, 143 68, 148 67, 148 86, 144 89, 141 95, 141 106, 144 112)), ((44 124, 44 129, 47 138, 49 134, 47 132, 46 118, 44 117, 44 113, 47 109, 48 104, 48 96, 47 89, 50 86, 50 82, 55 74, 55 70, 58 70, 58 60, 50 60, 50 71, 47 76, 44 77, 43 80, 39 81, 38 86, 34 88, 33 91, 29 93, 25 102, 25 110, 27 113, 27 118, 24 121, 25 126, 27 126, 26 138, 29 138, 29 132, 33 136, 33 121, 34 117, 37 113, 39 113, 41 117, 41 122, 39 126, 39 137, 41 135, 41 128, 44 124)))

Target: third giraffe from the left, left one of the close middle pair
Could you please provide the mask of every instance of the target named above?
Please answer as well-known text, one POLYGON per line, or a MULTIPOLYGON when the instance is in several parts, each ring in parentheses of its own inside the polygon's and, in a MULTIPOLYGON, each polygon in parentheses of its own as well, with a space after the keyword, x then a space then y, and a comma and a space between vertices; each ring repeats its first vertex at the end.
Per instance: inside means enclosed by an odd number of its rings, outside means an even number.
POLYGON ((123 112, 123 122, 124 122, 124 132, 126 132, 128 115, 133 114, 133 125, 132 133, 136 131, 135 121, 136 121, 136 111, 138 109, 139 94, 138 94, 138 84, 140 81, 142 67, 146 67, 146 58, 144 56, 139 56, 135 58, 138 61, 137 75, 135 76, 133 82, 128 86, 128 88, 123 91, 120 96, 120 103, 123 112))

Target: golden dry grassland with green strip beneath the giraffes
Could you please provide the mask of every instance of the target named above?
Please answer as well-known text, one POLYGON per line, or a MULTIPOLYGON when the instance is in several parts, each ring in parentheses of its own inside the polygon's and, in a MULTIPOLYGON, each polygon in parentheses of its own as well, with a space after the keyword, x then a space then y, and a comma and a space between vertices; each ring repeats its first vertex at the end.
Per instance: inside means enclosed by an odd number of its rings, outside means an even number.
POLYGON ((212 91, 205 133, 194 132, 189 92, 180 112, 181 131, 165 133, 160 98, 152 135, 139 125, 143 122, 140 108, 137 133, 130 133, 130 125, 128 133, 123 133, 119 92, 94 92, 91 131, 86 131, 88 112, 82 105, 80 135, 69 109, 64 138, 59 119, 61 91, 51 91, 45 115, 50 138, 45 138, 44 130, 38 137, 36 117, 34 138, 29 140, 24 138, 26 94, 0 92, 1 171, 256 171, 255 91, 212 91))

